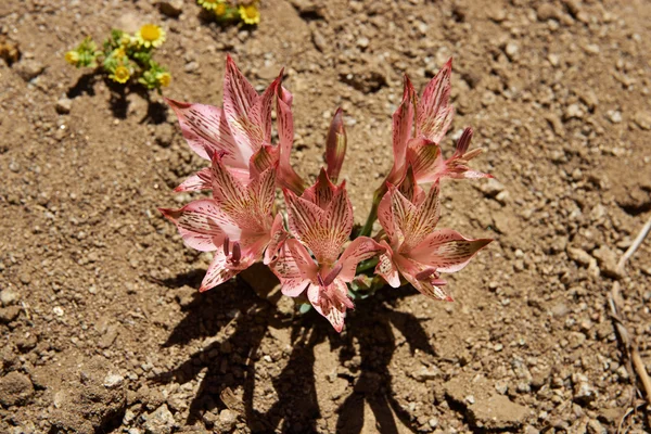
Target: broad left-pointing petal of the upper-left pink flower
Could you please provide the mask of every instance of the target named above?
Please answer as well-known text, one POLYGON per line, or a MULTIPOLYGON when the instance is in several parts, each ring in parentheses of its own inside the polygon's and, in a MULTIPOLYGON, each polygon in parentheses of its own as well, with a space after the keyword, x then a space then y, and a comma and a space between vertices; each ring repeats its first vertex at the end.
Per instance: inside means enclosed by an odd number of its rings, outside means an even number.
POLYGON ((210 159, 208 152, 224 153, 225 164, 248 171, 248 159, 253 151, 250 146, 241 146, 235 142, 221 108, 168 98, 165 101, 176 113, 183 137, 199 156, 210 159))

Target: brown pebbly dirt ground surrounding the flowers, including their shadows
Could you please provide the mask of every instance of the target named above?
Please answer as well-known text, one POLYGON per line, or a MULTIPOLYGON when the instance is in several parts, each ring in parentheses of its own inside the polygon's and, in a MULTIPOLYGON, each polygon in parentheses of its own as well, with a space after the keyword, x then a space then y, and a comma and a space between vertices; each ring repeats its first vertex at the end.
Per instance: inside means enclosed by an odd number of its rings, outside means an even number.
POLYGON ((651 215, 651 3, 267 0, 244 28, 190 0, 2 0, 0 26, 22 51, 0 61, 0 432, 651 432, 608 310, 617 281, 651 370, 651 240, 615 267, 651 215), (473 126, 497 180, 443 186, 441 226, 496 239, 456 302, 387 288, 337 334, 259 272, 199 294, 209 255, 156 207, 204 163, 161 97, 63 59, 146 22, 177 100, 220 105, 227 52, 260 89, 285 66, 302 176, 343 106, 358 222, 403 74, 422 89, 454 56, 443 151, 473 126))

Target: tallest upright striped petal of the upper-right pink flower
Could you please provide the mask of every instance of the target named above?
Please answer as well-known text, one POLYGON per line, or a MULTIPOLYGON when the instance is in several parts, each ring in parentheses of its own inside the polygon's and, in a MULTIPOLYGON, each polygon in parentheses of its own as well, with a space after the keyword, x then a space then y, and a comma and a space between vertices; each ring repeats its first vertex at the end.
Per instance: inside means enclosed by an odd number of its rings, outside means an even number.
POLYGON ((449 105, 452 73, 450 59, 427 84, 418 105, 418 133, 439 143, 452 124, 454 108, 449 105))

